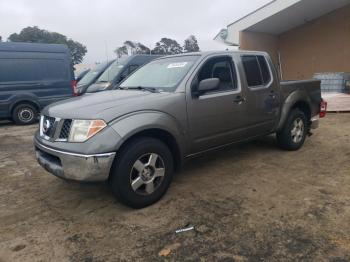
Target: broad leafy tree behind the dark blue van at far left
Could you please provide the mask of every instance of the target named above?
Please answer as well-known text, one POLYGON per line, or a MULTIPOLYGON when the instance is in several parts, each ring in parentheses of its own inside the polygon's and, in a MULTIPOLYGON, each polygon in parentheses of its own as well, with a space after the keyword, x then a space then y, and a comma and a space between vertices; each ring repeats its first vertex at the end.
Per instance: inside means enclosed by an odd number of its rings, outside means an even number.
POLYGON ((80 64, 87 52, 83 44, 60 33, 40 29, 37 26, 23 28, 19 34, 11 34, 8 40, 11 42, 65 44, 70 50, 73 65, 80 64))

